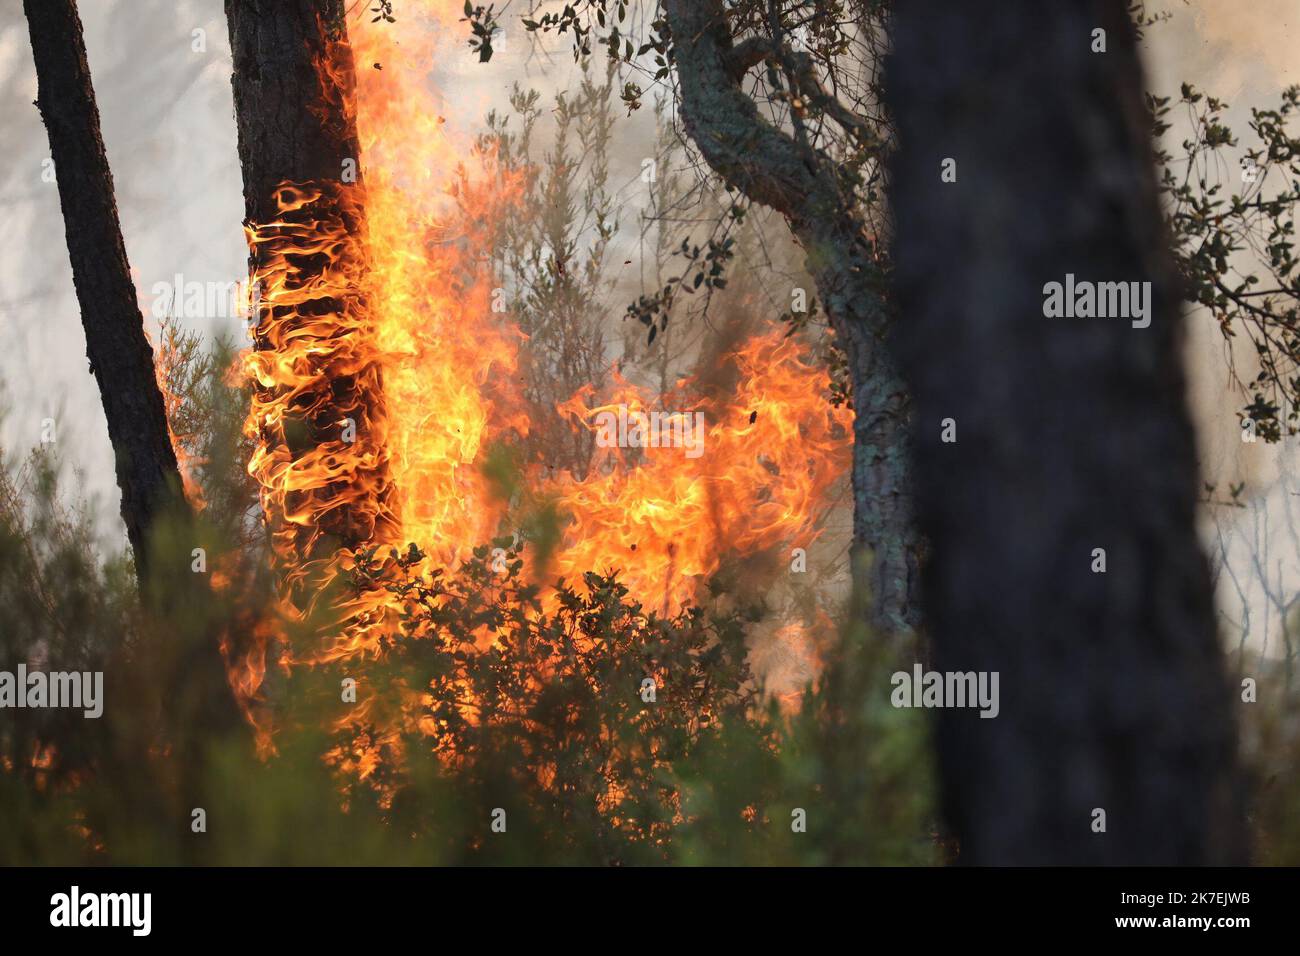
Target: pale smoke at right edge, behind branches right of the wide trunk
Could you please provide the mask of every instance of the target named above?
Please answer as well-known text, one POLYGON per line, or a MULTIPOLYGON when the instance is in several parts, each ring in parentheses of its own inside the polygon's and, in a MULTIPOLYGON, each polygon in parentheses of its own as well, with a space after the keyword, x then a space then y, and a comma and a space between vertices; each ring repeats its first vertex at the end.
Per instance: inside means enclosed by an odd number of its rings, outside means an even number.
MULTIPOLYGON (((1294 0, 1165 0, 1148 9, 1170 14, 1147 31, 1152 92, 1176 100, 1187 81, 1226 100, 1226 122, 1239 138, 1249 133, 1252 108, 1275 108, 1280 91, 1300 82, 1300 5, 1294 0)), ((1190 133, 1175 122, 1166 137, 1170 152, 1178 155, 1190 133)), ((1230 155, 1228 163, 1235 161, 1230 155)), ((1242 267, 1249 269, 1249 263, 1242 267)), ((1248 343, 1228 345, 1202 308, 1188 313, 1186 358, 1202 479, 1214 486, 1206 497, 1225 502, 1230 486, 1244 484, 1244 507, 1210 503, 1202 512, 1221 628, 1230 646, 1277 658, 1287 653, 1283 617, 1300 596, 1300 476, 1288 467, 1297 441, 1242 440, 1245 399, 1228 382, 1228 360, 1249 380, 1254 355, 1248 343)))

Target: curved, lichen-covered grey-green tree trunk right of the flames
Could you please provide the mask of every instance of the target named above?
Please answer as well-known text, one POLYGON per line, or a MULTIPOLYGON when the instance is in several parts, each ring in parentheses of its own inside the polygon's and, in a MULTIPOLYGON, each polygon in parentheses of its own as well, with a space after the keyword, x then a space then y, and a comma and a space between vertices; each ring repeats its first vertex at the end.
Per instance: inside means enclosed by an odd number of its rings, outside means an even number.
POLYGON ((871 623, 884 635, 918 624, 918 537, 906 454, 909 403, 884 341, 892 312, 883 274, 850 195, 815 148, 768 124, 741 88, 722 0, 664 0, 686 131, 728 185, 780 212, 809 254, 807 269, 849 358, 853 386, 853 538, 870 562, 871 623))

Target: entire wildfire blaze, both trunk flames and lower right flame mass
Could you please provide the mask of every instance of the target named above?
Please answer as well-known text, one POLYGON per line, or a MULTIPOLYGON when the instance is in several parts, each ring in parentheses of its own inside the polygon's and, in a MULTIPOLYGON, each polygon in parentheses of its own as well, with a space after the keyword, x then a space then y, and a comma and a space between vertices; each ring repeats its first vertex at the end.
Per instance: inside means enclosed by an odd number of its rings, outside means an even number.
MULTIPOLYGON (((320 646, 295 648, 298 662, 364 657, 395 632, 391 596, 320 593, 364 549, 415 541, 432 567, 454 570, 508 529, 510 503, 482 464, 488 447, 526 434, 516 388, 526 343, 494 308, 485 250, 519 190, 454 134, 428 82, 437 38, 459 16, 451 0, 422 0, 403 4, 396 23, 350 25, 363 174, 285 183, 281 216, 247 230, 259 295, 244 358, 256 386, 248 471, 286 605, 306 614, 337 602, 337 627, 320 646)), ((728 362, 724 395, 690 380, 651 395, 619 380, 599 405, 592 388, 562 406, 575 428, 621 406, 689 411, 703 431, 698 455, 602 447, 581 480, 537 479, 564 520, 552 571, 572 581, 616 568, 638 601, 675 611, 728 554, 809 546, 848 470, 852 412, 828 406, 826 371, 781 332, 728 362)), ((260 663, 240 665, 243 696, 261 675, 260 663)), ((358 747, 343 762, 365 775, 376 749, 358 747)))

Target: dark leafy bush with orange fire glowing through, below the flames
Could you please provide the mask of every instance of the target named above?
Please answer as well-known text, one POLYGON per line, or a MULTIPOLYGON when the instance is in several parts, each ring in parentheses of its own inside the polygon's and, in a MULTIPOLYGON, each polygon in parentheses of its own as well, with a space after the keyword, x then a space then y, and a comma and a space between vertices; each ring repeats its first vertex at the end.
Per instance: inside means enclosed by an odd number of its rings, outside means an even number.
POLYGON ((672 766, 758 700, 745 622, 699 609, 660 619, 597 574, 549 592, 547 610, 520 583, 517 550, 489 555, 478 549, 455 575, 424 574, 413 546, 361 563, 360 587, 403 607, 382 695, 399 696, 394 682, 421 691, 426 739, 413 745, 494 780, 495 805, 545 821, 556 858, 662 858, 679 803, 672 766))

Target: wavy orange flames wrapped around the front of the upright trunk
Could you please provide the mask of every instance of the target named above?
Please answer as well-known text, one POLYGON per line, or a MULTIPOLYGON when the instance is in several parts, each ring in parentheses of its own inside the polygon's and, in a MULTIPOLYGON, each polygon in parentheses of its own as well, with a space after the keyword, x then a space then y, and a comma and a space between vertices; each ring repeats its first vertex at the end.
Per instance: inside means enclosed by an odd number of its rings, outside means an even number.
POLYGON ((387 502, 381 364, 363 300, 361 198, 338 185, 285 183, 281 217, 247 228, 259 290, 248 463, 282 557, 385 540, 387 502))

